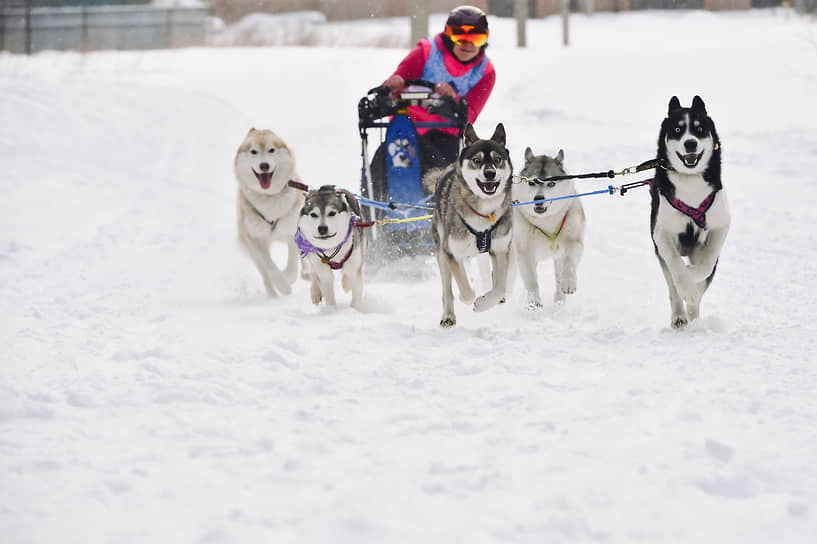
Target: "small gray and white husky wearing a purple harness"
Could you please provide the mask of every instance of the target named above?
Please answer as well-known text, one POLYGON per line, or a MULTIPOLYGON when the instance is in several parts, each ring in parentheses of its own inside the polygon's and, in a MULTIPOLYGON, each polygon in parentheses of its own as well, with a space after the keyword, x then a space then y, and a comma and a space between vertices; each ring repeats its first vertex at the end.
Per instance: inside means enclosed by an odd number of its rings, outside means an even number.
POLYGON ((363 264, 367 238, 361 228, 360 204, 352 193, 324 185, 310 191, 301 208, 295 243, 312 282, 312 302, 335 306, 334 271, 340 270, 352 307, 363 311, 363 264))

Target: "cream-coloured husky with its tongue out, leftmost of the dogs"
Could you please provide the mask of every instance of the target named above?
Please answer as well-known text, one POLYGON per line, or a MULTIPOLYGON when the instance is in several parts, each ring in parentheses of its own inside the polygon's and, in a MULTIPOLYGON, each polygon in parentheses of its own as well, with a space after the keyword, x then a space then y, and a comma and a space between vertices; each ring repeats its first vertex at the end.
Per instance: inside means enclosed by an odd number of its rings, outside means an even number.
POLYGON ((238 238, 261 274, 267 294, 288 295, 298 277, 300 259, 293 236, 304 202, 295 157, 274 132, 253 128, 236 152, 233 172, 238 182, 238 238), (283 271, 270 256, 272 242, 287 245, 283 271))

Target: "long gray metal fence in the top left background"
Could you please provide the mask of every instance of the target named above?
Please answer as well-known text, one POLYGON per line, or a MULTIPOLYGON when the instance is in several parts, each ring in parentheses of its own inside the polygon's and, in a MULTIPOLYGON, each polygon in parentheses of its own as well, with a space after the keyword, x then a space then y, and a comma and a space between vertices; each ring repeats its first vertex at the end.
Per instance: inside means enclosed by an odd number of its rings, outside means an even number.
POLYGON ((206 7, 160 8, 146 0, 3 0, 0 50, 30 54, 204 45, 207 16, 206 7))

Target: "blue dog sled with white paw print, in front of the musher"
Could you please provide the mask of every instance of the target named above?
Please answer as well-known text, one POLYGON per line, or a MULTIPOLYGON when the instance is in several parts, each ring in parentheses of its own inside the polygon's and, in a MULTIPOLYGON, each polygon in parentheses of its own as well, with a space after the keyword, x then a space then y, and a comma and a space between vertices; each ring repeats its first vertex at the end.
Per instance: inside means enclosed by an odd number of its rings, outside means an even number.
POLYGON ((434 84, 424 80, 406 81, 398 97, 386 86, 375 87, 358 103, 361 141, 360 192, 364 218, 376 222, 371 229, 371 254, 381 259, 404 255, 430 254, 433 250, 431 221, 433 194, 422 183, 423 171, 418 128, 455 128, 462 146, 462 132, 468 122, 465 100, 432 97, 434 84), (414 121, 410 106, 420 106, 445 121, 414 121), (377 129, 372 165, 369 158, 369 131, 377 129), (385 156, 385 157, 384 157, 385 156), (376 175, 372 171, 377 169, 376 175))

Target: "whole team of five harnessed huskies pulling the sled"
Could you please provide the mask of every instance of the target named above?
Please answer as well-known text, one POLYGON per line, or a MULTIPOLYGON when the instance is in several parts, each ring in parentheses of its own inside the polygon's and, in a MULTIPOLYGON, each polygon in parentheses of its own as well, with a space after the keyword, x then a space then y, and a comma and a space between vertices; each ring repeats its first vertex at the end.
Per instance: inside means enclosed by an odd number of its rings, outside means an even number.
MULTIPOLYGON (((459 159, 430 171, 423 184, 434 193, 432 237, 442 281, 440 325, 456 324, 453 283, 459 298, 485 311, 505 301, 511 255, 519 266, 531 309, 541 307, 537 265, 554 262, 555 302, 576 291, 576 270, 584 249, 585 215, 572 180, 542 181, 565 175, 564 152, 555 157, 525 150, 521 181, 500 123, 490 139, 469 124, 459 159), (533 202, 513 206, 513 202, 533 202), (465 270, 468 257, 490 255, 492 284, 477 296, 465 270)), ((729 229, 729 206, 721 183, 720 140, 703 100, 691 107, 669 102, 658 137, 655 177, 650 182, 650 231, 669 290, 673 328, 696 319, 704 292, 715 275, 729 229)), ((270 130, 251 129, 234 161, 238 182, 238 234, 270 296, 289 294, 298 276, 311 282, 311 299, 335 305, 334 272, 340 271, 352 307, 363 310, 363 267, 367 236, 352 193, 331 185, 307 191, 286 143, 270 130), (270 244, 287 245, 281 270, 270 244)))

